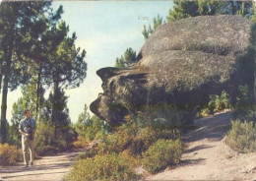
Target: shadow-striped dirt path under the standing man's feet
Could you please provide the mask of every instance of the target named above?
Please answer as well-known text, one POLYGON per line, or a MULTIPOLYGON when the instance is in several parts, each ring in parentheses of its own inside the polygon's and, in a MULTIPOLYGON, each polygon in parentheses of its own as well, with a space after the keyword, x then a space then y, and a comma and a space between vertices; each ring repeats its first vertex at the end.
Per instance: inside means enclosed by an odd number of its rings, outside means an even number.
POLYGON ((0 166, 0 181, 60 181, 69 173, 75 157, 82 151, 65 152, 43 156, 34 165, 23 168, 23 163, 15 166, 0 166))

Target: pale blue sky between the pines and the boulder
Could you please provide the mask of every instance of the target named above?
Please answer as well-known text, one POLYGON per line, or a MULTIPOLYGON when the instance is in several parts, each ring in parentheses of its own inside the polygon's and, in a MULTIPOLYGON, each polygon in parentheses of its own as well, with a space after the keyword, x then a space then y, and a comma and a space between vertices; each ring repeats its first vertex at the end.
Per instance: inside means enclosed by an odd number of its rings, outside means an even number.
MULTIPOLYGON (((171 1, 54 1, 56 10, 63 5, 62 20, 69 25, 70 33, 76 31, 76 45, 86 49, 87 78, 77 89, 67 90, 71 121, 75 123, 84 105, 96 99, 101 90, 101 80, 96 70, 113 67, 116 57, 128 47, 138 53, 145 43, 143 26, 153 25, 160 14, 166 20, 171 1)), ((22 96, 20 90, 9 91, 7 120, 11 120, 12 105, 22 96)))

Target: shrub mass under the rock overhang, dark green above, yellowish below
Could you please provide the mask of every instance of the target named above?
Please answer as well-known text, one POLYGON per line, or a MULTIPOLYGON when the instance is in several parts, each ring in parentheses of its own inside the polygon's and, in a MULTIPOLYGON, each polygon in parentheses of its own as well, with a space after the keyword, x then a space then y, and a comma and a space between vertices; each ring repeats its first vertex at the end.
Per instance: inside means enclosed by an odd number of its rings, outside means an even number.
POLYGON ((99 152, 119 153, 127 150, 133 155, 141 155, 160 139, 179 138, 177 123, 180 123, 180 120, 176 119, 181 116, 178 116, 175 109, 169 110, 168 106, 160 107, 161 109, 155 111, 151 107, 135 117, 126 116, 126 119, 130 120, 117 128, 114 133, 107 135, 99 145, 101 147, 99 152))

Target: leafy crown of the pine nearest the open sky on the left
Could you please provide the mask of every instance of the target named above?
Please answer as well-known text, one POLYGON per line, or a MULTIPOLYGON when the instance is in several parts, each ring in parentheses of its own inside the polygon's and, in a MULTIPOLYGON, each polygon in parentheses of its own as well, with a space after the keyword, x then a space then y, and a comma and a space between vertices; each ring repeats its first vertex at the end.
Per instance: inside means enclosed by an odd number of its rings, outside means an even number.
POLYGON ((69 27, 60 21, 47 31, 50 49, 47 67, 49 83, 57 89, 73 89, 80 86, 87 76, 86 51, 76 47, 76 33, 68 36, 69 27), (54 40, 54 43, 52 43, 54 40))

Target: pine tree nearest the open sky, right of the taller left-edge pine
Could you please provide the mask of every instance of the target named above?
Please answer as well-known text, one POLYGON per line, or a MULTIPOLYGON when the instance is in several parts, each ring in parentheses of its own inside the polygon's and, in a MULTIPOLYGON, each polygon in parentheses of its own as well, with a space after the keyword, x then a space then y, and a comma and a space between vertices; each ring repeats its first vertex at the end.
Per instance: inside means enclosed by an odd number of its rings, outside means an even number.
MULTIPOLYGON (((55 126, 55 137, 57 136, 58 127, 67 119, 67 109, 60 104, 60 97, 66 89, 73 89, 80 86, 84 82, 87 75, 87 63, 84 61, 86 51, 80 51, 76 48, 76 33, 71 37, 67 34, 69 27, 65 22, 59 22, 52 27, 47 33, 49 51, 47 52, 47 81, 52 88, 50 96, 51 102, 51 121, 55 126), (64 114, 62 114, 64 111, 64 114), (62 112, 62 113, 61 113, 62 112), (64 117, 63 117, 64 116, 64 117)), ((62 102, 65 105, 65 102, 62 102)))

